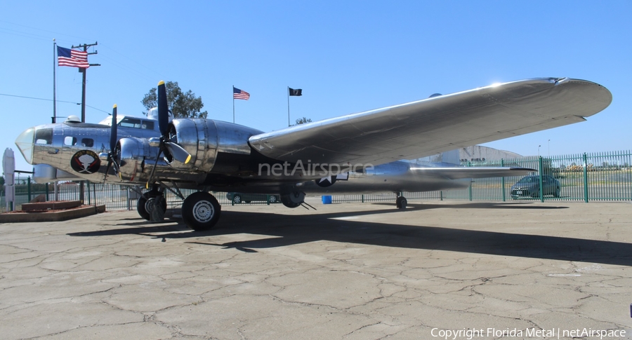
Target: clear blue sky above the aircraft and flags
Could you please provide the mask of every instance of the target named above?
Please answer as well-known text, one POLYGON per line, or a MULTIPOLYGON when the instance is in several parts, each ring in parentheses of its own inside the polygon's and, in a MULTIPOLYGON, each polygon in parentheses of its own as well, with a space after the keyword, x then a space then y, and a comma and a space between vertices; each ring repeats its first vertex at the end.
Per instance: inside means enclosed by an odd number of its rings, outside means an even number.
MULTIPOLYGON (((51 120, 53 38, 98 41, 86 121, 113 104, 138 115, 158 81, 201 96, 209 118, 263 131, 433 93, 538 77, 595 81, 614 97, 584 123, 485 144, 524 156, 632 149, 632 1, 4 1, 0 147, 51 120), (550 140, 550 142, 549 142, 550 140)), ((81 74, 57 67, 57 99, 81 102, 81 74)), ((80 116, 58 102, 58 116, 80 116)))

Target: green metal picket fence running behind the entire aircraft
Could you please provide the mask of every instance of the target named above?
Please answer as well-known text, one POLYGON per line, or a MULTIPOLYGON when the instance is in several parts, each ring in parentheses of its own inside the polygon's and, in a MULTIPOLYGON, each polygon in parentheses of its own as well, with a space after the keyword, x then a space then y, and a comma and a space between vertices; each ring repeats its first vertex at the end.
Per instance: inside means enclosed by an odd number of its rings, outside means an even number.
MULTIPOLYGON (((506 166, 532 168, 538 171, 534 174, 540 177, 551 175, 560 182, 560 197, 543 195, 539 191, 536 197, 511 196, 511 186, 520 180, 519 176, 494 177, 474 179, 466 189, 429 192, 402 193, 407 200, 487 200, 506 201, 520 200, 572 200, 572 201, 621 201, 632 200, 632 152, 614 151, 593 154, 573 154, 551 157, 522 157, 492 162, 468 162, 464 166, 506 166)), ((15 209, 19 210, 22 203, 27 203, 38 195, 46 195, 47 200, 54 199, 53 184, 34 184, 30 177, 20 179, 16 185, 15 209)), ((79 188, 77 182, 65 182, 59 184, 60 200, 78 200, 79 188)), ((88 184, 84 189, 85 203, 89 205, 105 204, 107 210, 136 209, 138 193, 128 186, 113 184, 88 184)), ((187 196, 195 190, 183 190, 187 196)), ((0 192, 0 210, 4 211, 4 191, 0 192)), ((213 193, 222 205, 232 204, 226 193, 213 193)), ((365 195, 339 195, 333 196, 332 201, 340 202, 395 202, 395 193, 375 193, 365 195)), ((166 200, 169 208, 178 208, 182 200, 171 191, 166 191, 166 200)), ((266 204, 242 203, 242 204, 266 204)))

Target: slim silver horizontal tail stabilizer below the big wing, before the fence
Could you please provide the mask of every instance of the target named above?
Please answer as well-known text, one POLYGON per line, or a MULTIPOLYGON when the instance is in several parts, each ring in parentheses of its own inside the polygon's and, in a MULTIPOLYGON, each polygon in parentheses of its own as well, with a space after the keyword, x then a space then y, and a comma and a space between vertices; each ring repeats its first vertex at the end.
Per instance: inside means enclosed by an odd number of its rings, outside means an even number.
POLYGON ((451 168, 411 168, 413 173, 426 176, 437 176, 445 179, 511 177, 529 175, 536 172, 530 168, 487 168, 487 167, 451 167, 451 168))

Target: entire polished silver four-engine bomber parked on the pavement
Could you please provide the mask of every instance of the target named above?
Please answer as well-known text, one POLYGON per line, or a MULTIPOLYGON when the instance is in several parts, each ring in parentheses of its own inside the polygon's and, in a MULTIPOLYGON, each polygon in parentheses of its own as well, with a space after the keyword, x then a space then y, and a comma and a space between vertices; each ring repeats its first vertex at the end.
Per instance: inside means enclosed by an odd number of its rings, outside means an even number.
MULTIPOLYGON (((533 170, 401 160, 585 121, 611 101, 610 91, 591 81, 527 79, 263 132, 213 119, 172 119, 161 81, 157 117, 117 116, 114 106, 111 119, 99 124, 37 125, 15 144, 50 180, 67 172, 147 187, 138 200, 145 218, 164 210, 164 190, 171 190, 184 200, 187 226, 199 231, 220 217, 209 191, 278 194, 296 208, 312 193, 435 191, 467 186, 471 178, 526 175, 533 170), (199 191, 183 197, 180 189, 199 191)), ((406 204, 397 198, 399 208, 406 204)))

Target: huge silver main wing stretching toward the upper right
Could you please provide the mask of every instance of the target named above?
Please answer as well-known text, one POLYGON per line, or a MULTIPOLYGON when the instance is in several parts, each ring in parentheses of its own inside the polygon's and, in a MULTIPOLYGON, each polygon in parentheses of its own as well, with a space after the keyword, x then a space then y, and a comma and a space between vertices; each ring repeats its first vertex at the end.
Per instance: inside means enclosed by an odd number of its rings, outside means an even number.
POLYGON ((542 78, 440 95, 250 137, 279 161, 381 164, 585 121, 612 102, 591 81, 542 78))

